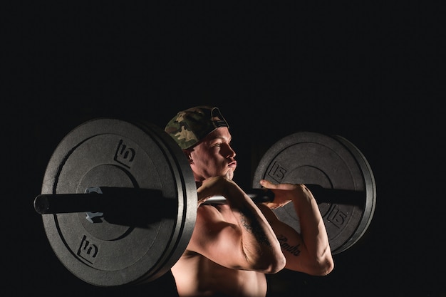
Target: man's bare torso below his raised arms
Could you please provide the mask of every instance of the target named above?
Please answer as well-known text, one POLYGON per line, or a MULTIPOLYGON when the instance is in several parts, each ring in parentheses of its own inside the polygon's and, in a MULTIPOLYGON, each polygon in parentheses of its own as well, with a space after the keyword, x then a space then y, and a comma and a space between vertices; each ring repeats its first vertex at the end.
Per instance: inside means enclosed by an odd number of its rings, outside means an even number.
POLYGON ((190 251, 171 270, 180 297, 266 296, 264 273, 227 269, 190 251))

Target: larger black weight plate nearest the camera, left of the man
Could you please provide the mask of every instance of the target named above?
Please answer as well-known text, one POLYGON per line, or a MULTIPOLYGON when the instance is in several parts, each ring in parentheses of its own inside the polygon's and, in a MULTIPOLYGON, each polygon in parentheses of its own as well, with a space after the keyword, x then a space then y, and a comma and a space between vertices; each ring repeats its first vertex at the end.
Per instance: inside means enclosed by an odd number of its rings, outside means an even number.
POLYGON ((144 283, 180 259, 195 226, 197 189, 180 147, 163 130, 99 118, 69 132, 48 162, 42 194, 90 187, 155 189, 174 207, 146 225, 115 224, 106 216, 92 223, 85 212, 43 214, 56 256, 75 276, 95 286, 144 283))

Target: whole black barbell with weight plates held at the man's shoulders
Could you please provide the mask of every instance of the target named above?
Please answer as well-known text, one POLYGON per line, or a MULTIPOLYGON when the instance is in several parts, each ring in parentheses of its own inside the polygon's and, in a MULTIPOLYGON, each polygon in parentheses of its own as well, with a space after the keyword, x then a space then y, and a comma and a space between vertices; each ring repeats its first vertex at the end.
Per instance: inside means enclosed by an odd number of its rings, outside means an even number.
MULTIPOLYGON (((260 179, 306 184, 318 202, 331 251, 361 239, 373 217, 375 179, 345 138, 296 132, 266 151, 254 173, 254 202, 274 199, 260 179)), ((225 203, 211 197, 207 204, 225 203)), ((95 286, 154 281, 192 236, 197 188, 184 153, 151 123, 97 118, 69 132, 48 162, 33 200, 51 248, 71 273, 95 286)), ((292 205, 274 209, 299 231, 292 205)))

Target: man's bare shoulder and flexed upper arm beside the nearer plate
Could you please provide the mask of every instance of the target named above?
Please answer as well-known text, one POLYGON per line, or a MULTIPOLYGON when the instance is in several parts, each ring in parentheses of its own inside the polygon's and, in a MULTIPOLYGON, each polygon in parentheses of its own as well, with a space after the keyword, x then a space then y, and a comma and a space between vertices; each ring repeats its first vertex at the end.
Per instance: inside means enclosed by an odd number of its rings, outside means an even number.
POLYGON ((264 273, 283 269, 285 259, 281 261, 284 256, 280 252, 279 244, 274 243, 277 244, 281 255, 277 257, 270 252, 270 239, 262 236, 255 223, 253 225, 249 219, 243 222, 242 217, 234 216, 228 205, 199 207, 197 224, 187 249, 229 269, 264 273))

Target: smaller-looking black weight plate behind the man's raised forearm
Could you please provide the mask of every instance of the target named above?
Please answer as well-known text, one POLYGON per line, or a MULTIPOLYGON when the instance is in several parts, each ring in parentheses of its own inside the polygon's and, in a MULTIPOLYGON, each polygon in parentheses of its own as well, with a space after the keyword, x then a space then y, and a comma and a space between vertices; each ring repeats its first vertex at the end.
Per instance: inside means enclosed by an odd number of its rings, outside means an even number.
MULTIPOLYGON (((375 211, 375 179, 370 165, 356 146, 340 136, 296 132, 282 138, 261 158, 254 172, 254 188, 259 187, 260 179, 359 193, 354 203, 334 194, 333 199, 322 200, 315 194, 333 254, 346 251, 361 239, 375 211)), ((274 212, 300 231, 292 204, 274 212)))

